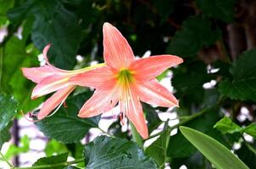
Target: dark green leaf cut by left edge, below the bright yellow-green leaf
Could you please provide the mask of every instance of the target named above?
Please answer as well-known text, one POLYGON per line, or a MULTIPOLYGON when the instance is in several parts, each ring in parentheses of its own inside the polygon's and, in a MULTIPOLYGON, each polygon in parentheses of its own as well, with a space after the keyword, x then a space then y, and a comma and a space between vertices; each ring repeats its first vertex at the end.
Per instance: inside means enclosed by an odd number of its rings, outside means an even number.
POLYGON ((0 131, 6 128, 17 112, 18 102, 14 97, 0 93, 0 131))

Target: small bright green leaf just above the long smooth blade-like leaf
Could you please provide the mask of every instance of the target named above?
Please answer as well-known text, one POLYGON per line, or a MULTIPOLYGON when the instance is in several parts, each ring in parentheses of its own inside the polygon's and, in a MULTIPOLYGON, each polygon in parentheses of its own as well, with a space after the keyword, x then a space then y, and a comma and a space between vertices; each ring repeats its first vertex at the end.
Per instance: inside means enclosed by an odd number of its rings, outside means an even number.
POLYGON ((236 123, 232 123, 229 117, 223 117, 219 122, 214 125, 214 128, 220 130, 222 134, 233 134, 241 132, 242 128, 236 123))

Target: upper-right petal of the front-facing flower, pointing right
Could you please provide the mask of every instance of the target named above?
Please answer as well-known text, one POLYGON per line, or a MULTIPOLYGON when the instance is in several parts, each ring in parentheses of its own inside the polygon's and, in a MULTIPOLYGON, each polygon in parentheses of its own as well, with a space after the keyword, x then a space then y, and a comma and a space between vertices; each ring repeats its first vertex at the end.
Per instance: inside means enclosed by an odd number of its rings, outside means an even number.
POLYGON ((173 67, 183 62, 181 57, 172 55, 159 55, 147 58, 141 58, 130 65, 130 69, 135 71, 136 79, 144 81, 154 79, 165 69, 173 67))

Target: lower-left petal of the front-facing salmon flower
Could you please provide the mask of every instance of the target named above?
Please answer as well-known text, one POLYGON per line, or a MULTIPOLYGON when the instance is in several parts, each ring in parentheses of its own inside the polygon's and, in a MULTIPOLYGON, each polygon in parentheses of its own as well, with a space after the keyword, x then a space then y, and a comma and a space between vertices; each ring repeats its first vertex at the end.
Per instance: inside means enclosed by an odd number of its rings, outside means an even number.
POLYGON ((116 89, 95 90, 92 97, 86 101, 78 114, 79 117, 94 117, 110 111, 117 103, 116 89))

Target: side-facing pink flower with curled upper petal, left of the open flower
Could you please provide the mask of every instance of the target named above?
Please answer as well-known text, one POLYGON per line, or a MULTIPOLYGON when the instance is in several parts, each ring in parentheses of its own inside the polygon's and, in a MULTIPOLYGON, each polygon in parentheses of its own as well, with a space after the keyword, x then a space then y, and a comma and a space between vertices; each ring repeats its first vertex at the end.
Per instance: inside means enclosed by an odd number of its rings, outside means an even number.
POLYGON ((57 91, 43 103, 40 112, 37 114, 38 120, 47 117, 53 109, 57 106, 61 106, 68 95, 70 95, 70 93, 75 89, 75 85, 69 82, 70 77, 76 74, 86 73, 86 71, 92 68, 104 65, 97 64, 92 67, 72 71, 55 68, 47 60, 47 51, 50 46, 50 44, 45 46, 42 52, 46 65, 38 68, 21 68, 24 76, 37 84, 32 91, 31 99, 36 99, 42 95, 47 95, 53 91, 57 91))

